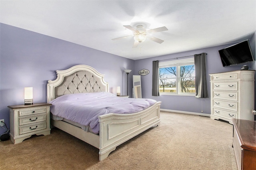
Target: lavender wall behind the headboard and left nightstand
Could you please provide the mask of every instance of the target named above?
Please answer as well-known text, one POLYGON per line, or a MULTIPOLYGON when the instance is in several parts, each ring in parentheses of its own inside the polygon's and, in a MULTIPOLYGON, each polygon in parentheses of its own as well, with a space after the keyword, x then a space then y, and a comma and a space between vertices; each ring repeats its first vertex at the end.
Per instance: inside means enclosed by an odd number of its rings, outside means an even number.
MULTIPOLYGON (((24 87, 33 87, 34 103, 46 102, 47 80, 56 78, 55 70, 64 70, 76 64, 92 66, 106 74, 109 90, 121 95, 127 92, 127 75, 131 69, 132 87, 134 60, 126 59, 32 31, 0 23, 0 119, 10 127, 7 106, 24 104, 24 87)), ((132 88, 129 88, 132 96, 132 88)), ((0 127, 0 135, 6 130, 0 127)))

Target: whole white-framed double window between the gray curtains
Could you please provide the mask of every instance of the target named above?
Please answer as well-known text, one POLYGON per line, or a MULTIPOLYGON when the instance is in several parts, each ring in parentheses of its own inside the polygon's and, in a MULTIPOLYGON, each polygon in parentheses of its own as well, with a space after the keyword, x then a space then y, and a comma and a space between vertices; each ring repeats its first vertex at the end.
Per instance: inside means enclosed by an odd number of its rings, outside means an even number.
POLYGON ((194 58, 159 62, 159 92, 164 95, 194 96, 194 58))

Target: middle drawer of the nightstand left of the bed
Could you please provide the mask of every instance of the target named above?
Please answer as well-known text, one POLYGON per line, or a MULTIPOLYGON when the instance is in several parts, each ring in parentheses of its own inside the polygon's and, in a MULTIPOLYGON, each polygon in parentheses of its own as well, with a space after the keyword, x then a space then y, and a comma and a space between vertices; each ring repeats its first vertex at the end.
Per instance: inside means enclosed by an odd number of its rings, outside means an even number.
POLYGON ((46 113, 22 116, 19 118, 19 125, 27 125, 27 124, 37 123, 41 121, 46 121, 46 113))

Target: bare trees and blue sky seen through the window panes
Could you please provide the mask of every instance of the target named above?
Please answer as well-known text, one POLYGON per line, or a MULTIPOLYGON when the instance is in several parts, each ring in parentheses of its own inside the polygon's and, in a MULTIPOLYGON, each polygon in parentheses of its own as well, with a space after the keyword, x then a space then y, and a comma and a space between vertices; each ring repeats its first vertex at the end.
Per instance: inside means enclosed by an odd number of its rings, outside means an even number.
POLYGON ((159 68, 160 92, 177 93, 177 87, 180 93, 195 93, 194 64, 178 66, 178 72, 177 66, 159 68))

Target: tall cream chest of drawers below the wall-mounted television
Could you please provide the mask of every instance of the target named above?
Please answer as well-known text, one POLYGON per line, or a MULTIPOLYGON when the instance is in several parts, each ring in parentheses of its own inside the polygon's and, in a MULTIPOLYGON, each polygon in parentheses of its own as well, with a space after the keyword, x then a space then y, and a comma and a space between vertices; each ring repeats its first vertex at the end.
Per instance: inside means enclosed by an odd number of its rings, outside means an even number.
POLYGON ((211 119, 254 120, 254 70, 210 74, 211 119))

